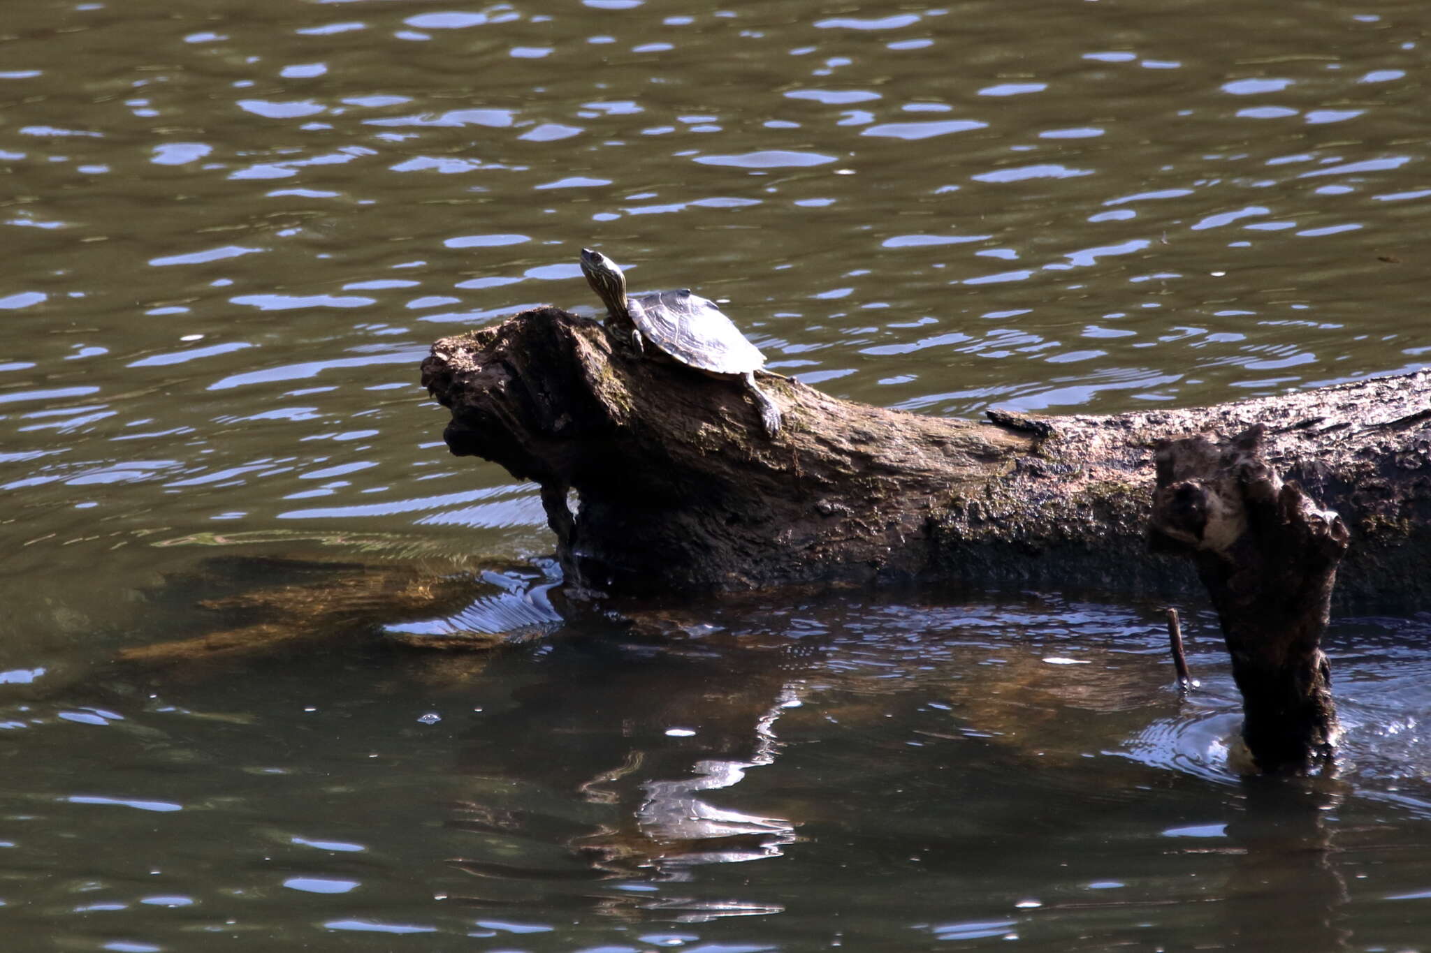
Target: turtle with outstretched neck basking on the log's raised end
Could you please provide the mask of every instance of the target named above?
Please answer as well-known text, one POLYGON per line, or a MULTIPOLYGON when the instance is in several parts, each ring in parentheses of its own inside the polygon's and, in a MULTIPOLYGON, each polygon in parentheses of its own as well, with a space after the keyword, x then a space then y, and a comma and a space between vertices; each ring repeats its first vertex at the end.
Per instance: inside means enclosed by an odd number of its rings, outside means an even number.
POLYGON ((581 273, 607 306, 605 326, 628 337, 637 353, 644 354, 650 341, 687 367, 711 377, 741 381, 760 407, 766 436, 780 433, 780 409, 756 384, 756 371, 766 366, 766 356, 746 340, 714 301, 693 294, 690 289, 628 296, 625 274, 617 263, 591 249, 581 250, 581 273))

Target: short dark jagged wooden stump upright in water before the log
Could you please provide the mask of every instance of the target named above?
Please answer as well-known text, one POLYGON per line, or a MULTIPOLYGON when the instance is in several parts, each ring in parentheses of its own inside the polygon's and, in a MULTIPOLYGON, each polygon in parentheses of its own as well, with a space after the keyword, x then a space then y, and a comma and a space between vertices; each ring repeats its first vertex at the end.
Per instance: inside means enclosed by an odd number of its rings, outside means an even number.
POLYGON ((1321 649, 1347 524, 1284 483, 1258 424, 1221 446, 1158 447, 1155 549, 1192 559, 1242 692, 1242 739, 1264 772, 1328 764, 1337 740, 1331 663, 1321 649))

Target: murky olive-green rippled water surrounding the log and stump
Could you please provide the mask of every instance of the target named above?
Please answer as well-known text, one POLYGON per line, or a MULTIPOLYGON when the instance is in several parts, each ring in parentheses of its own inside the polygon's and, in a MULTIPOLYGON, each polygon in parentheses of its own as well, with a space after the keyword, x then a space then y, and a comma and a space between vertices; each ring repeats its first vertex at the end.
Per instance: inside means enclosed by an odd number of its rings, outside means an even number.
POLYGON ((325 576, 276 557, 532 584, 534 493, 446 454, 416 363, 594 304, 584 244, 926 413, 1428 364, 1428 29, 6 3, 7 949, 1431 949, 1421 617, 1337 627, 1344 776, 1264 789, 1211 624, 1179 704, 1113 593, 733 602, 491 660, 385 639, 477 610, 215 602, 325 576), (250 624, 296 640, 110 666, 250 624))

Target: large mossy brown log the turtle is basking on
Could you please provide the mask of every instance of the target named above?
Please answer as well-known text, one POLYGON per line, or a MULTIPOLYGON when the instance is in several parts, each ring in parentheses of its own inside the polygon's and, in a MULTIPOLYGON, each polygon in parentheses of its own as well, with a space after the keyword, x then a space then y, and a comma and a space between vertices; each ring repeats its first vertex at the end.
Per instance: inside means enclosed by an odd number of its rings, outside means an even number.
POLYGON ((1431 373, 1213 407, 952 420, 643 359, 555 307, 432 346, 444 433, 542 487, 570 580, 610 593, 894 579, 1186 593, 1148 519, 1159 440, 1265 427, 1266 461, 1345 522, 1338 596, 1431 597, 1431 373), (574 506, 568 506, 574 503, 574 506))

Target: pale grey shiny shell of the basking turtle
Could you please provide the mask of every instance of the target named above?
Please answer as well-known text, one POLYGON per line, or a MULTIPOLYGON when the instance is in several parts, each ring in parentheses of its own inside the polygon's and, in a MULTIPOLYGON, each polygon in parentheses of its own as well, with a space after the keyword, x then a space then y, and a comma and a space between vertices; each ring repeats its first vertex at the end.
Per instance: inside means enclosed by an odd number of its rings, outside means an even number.
POLYGON ((713 374, 744 374, 766 364, 760 349, 690 289, 633 294, 627 309, 641 334, 683 364, 713 374))

